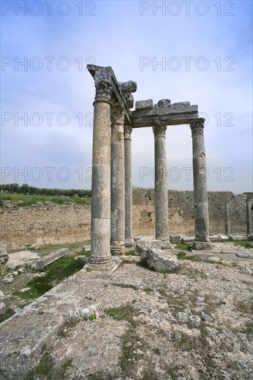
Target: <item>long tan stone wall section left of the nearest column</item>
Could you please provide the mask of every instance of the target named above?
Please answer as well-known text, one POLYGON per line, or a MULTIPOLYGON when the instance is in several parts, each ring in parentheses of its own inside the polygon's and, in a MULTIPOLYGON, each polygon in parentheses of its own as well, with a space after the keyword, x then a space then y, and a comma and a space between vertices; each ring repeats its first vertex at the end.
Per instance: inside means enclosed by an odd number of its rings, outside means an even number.
POLYGON ((88 240, 91 207, 35 205, 0 209, 1 245, 8 250, 88 240))

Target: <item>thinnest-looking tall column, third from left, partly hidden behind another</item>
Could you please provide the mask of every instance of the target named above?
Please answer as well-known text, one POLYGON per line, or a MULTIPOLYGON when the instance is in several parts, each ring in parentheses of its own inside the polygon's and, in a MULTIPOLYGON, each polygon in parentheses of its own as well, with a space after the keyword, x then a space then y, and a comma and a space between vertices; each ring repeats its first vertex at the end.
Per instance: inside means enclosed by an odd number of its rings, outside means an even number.
POLYGON ((124 238, 133 242, 133 191, 132 191, 132 152, 130 124, 124 125, 124 189, 125 189, 125 227, 124 238))

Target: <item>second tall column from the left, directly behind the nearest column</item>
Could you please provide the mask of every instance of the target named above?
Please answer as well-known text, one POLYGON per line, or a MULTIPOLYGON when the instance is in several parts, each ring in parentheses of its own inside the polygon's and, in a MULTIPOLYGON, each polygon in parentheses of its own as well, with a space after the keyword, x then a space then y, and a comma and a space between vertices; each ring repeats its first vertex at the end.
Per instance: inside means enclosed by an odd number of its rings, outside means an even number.
POLYGON ((124 253, 124 109, 111 108, 111 254, 124 253))

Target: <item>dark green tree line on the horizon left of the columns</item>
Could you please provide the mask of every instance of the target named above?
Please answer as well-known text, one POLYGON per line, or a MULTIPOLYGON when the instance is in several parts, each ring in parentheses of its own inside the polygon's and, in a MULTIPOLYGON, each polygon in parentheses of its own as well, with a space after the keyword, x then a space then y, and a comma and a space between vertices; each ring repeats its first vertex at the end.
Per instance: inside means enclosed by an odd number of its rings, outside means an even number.
POLYGON ((77 190, 77 189, 39 189, 39 187, 29 186, 28 184, 17 183, 0 184, 0 191, 8 191, 8 193, 17 194, 32 194, 38 196, 66 196, 72 197, 77 194, 79 197, 91 197, 91 190, 77 190))

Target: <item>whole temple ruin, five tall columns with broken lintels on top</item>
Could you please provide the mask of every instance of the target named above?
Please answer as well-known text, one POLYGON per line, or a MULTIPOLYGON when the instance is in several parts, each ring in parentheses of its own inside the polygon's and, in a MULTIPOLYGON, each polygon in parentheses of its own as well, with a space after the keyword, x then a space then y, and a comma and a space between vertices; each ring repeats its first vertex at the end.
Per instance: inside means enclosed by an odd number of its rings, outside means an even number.
POLYGON ((162 99, 135 102, 137 84, 118 82, 111 67, 88 65, 95 82, 91 257, 94 269, 113 269, 111 254, 123 254, 132 236, 131 132, 152 127, 155 151, 156 240, 169 248, 169 216, 165 137, 167 126, 189 124, 194 171, 194 249, 208 249, 209 219, 204 122, 198 106, 162 99))

